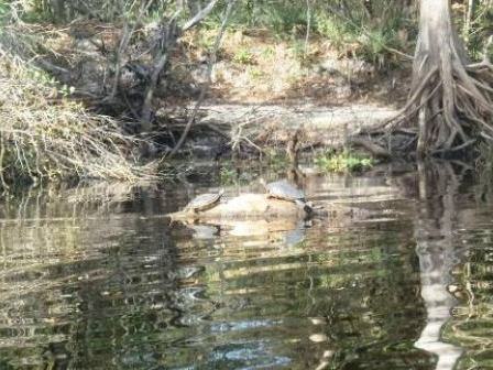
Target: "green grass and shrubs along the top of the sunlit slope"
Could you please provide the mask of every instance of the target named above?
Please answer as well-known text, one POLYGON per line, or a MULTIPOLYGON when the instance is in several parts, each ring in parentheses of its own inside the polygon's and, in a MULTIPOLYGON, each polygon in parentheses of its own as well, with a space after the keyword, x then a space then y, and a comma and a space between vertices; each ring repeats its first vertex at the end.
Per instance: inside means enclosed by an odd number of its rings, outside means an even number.
MULTIPOLYGON (((394 4, 395 6, 395 4, 394 4)), ((376 2, 376 20, 362 11, 361 2, 350 1, 350 8, 336 14, 324 1, 313 1, 310 32, 313 37, 321 37, 341 56, 353 56, 382 66, 392 61, 388 47, 409 52, 412 45, 403 44, 398 30, 414 33, 407 15, 390 10, 388 3, 376 2)), ((207 21, 209 29, 218 28, 222 8, 218 7, 207 21)), ((269 30, 272 36, 283 41, 304 42, 308 14, 305 2, 298 1, 238 1, 230 21, 230 30, 269 30)), ((295 47, 296 48, 296 47, 295 47)), ((300 48, 302 50, 302 48, 300 48)), ((304 51, 304 47, 303 47, 304 51)), ((298 52, 295 50, 295 53, 298 52)), ((303 55, 304 53, 298 53, 303 55)))

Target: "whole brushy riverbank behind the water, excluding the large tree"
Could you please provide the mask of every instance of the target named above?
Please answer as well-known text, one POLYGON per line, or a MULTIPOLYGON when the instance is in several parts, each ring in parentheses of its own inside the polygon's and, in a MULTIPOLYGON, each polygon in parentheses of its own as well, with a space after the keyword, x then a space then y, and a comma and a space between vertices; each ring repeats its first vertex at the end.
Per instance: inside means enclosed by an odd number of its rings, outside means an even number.
MULTIPOLYGON (((336 128, 321 116, 325 126, 314 129, 278 117, 285 107, 409 108, 419 9, 393 2, 0 1, 1 187, 158 178, 162 163, 198 146, 220 159, 321 145, 326 154, 316 161, 327 171, 370 167, 371 156, 390 157, 388 132, 385 140, 371 132, 381 122, 366 127, 373 143, 352 141, 362 143, 360 154, 347 150, 347 131, 361 133, 350 123, 336 128), (237 119, 227 111, 229 122, 210 119, 228 104, 250 109, 237 119), (263 107, 280 109, 266 115, 263 107), (313 139, 322 131, 337 131, 339 142, 313 139)), ((487 69, 493 10, 489 1, 473 3, 454 2, 452 15, 469 56, 487 69)), ((481 76, 487 92, 490 77, 481 76)), ((468 107, 468 117, 480 117, 468 107)), ((407 146, 413 157, 426 141, 412 124, 392 132, 392 145, 407 146)), ((447 138, 451 149, 461 145, 454 139, 447 138)), ((486 154, 478 162, 491 165, 490 145, 481 146, 486 154)))

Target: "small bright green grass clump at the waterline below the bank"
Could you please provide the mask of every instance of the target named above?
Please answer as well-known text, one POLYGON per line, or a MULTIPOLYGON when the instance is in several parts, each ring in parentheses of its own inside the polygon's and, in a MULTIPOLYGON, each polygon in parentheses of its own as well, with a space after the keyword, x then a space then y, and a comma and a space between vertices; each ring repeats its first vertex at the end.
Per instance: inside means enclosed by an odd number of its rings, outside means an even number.
POLYGON ((350 151, 330 151, 316 156, 315 164, 326 172, 354 172, 373 167, 374 160, 350 151))

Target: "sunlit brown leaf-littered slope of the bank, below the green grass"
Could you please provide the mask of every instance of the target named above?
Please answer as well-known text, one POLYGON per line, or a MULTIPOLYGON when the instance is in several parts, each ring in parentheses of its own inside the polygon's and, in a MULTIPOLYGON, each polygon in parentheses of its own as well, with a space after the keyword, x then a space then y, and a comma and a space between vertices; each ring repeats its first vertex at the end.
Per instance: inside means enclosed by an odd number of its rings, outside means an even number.
MULTIPOLYGON (((207 61, 204 45, 215 34, 213 30, 190 34, 183 42, 196 61, 198 77, 207 61)), ((280 40, 266 31, 235 31, 224 36, 212 74, 212 97, 250 104, 299 99, 318 105, 395 104, 404 98, 406 80, 402 70, 384 75, 365 61, 341 55, 320 37, 305 45, 304 40, 280 40)))

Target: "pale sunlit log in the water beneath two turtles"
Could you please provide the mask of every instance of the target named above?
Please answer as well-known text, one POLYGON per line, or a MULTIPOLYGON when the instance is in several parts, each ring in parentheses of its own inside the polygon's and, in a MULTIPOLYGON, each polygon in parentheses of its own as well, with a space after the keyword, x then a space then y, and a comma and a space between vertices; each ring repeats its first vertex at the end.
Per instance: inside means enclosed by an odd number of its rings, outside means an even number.
POLYGON ((293 202, 269 198, 266 194, 243 194, 226 199, 204 211, 168 214, 176 220, 218 220, 242 218, 305 218, 308 214, 293 202))

